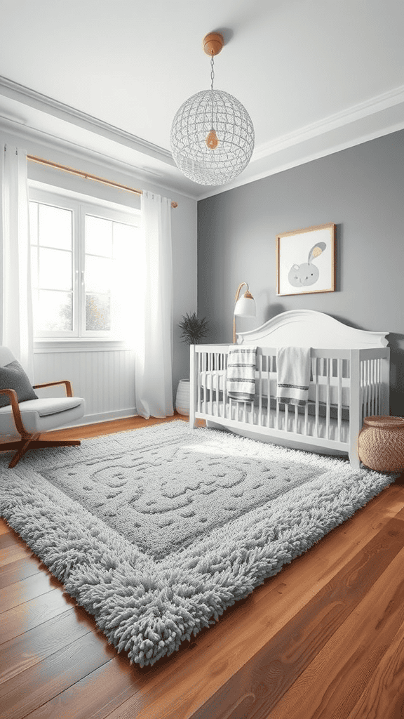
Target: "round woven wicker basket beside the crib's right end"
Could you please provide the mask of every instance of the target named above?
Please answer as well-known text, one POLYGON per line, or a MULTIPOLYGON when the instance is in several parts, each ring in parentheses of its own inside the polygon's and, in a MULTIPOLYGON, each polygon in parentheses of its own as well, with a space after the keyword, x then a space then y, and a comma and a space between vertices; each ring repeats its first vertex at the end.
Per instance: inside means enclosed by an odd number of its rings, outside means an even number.
POLYGON ((358 454, 371 470, 404 470, 404 417, 365 417, 358 454))

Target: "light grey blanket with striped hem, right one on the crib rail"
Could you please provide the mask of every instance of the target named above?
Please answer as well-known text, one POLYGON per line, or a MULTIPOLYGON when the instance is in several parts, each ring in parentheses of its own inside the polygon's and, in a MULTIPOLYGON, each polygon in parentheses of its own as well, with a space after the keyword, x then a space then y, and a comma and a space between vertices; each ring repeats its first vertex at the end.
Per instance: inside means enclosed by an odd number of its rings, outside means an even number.
POLYGON ((277 399, 285 404, 306 405, 310 384, 310 347, 278 347, 277 399))

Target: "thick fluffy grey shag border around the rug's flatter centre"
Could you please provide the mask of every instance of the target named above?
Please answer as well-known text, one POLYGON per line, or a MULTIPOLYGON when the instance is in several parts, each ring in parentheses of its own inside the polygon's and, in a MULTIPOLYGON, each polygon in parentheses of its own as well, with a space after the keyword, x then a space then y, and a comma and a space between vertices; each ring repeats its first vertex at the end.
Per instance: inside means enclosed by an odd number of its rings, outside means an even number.
MULTIPOLYGON (((252 439, 200 428, 191 431, 183 421, 120 433, 142 440, 142 433, 165 433, 178 440, 214 437, 226 443, 252 439)), ((104 448, 117 435, 83 441, 76 451, 104 448)), ((0 477, 0 513, 68 594, 91 613, 97 626, 118 651, 141 667, 178 650, 180 644, 247 597, 267 577, 307 551, 331 529, 390 485, 398 475, 352 470, 349 462, 263 444, 268 461, 296 462, 326 467, 326 472, 305 484, 301 492, 273 500, 270 508, 249 513, 226 533, 208 538, 154 562, 83 506, 61 493, 30 466, 35 453, 3 470, 0 477), (328 481, 327 481, 328 480, 328 481)), ((51 449, 42 452, 52 452, 51 449)), ((72 452, 72 449, 57 450, 72 452)), ((74 450, 73 450, 74 451, 74 450)), ((41 452, 37 450, 37 452, 41 452)))

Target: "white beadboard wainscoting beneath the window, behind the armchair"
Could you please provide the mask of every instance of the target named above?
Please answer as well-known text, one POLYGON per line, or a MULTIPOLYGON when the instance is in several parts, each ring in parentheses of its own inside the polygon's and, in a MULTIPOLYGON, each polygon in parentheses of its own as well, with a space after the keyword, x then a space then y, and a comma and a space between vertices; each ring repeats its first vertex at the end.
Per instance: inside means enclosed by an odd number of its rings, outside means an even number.
MULTIPOLYGON (((70 380, 73 395, 86 400, 86 415, 75 424, 108 421, 137 414, 134 350, 127 348, 36 347, 35 384, 70 380)), ((37 390, 38 396, 63 396, 65 385, 37 390)))

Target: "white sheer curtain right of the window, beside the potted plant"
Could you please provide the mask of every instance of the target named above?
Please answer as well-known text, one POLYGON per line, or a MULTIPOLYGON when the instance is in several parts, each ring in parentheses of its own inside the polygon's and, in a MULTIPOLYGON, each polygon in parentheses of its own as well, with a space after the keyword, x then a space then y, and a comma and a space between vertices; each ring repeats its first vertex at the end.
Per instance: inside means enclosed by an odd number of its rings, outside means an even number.
POLYGON ((148 419, 174 413, 171 201, 143 192, 142 229, 142 276, 134 282, 135 385, 137 413, 148 419))

